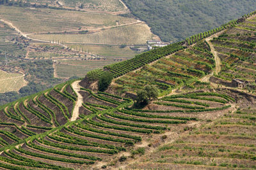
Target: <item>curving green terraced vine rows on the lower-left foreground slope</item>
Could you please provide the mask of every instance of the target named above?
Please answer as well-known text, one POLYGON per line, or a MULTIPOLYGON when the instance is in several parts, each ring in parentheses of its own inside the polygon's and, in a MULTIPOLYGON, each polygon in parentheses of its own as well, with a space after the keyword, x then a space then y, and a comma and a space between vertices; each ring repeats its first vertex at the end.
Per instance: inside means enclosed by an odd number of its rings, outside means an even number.
MULTIPOLYGON (((114 155, 128 152, 152 134, 161 137, 177 125, 198 122, 198 115, 191 113, 227 110, 234 100, 216 93, 196 93, 203 107, 191 102, 200 107, 186 103, 154 111, 131 110, 131 99, 83 88, 77 94, 72 85, 69 81, 2 107, 0 142, 8 150, 1 153, 0 167, 87 169, 99 161, 111 162, 114 155), (83 96, 79 120, 70 122, 77 96, 83 96), (17 146, 9 147, 13 145, 17 146)), ((175 103, 179 102, 184 103, 175 103)))

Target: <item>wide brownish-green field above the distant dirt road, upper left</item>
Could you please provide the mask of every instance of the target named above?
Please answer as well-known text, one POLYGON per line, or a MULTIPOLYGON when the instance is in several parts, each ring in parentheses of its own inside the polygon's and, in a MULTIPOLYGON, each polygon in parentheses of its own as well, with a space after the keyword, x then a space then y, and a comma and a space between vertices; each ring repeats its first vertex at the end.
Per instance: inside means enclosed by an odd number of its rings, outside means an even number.
MULTIPOLYGON (((3 20, 12 22, 20 31, 29 33, 48 33, 61 31, 79 31, 116 26, 116 21, 123 25, 136 22, 133 18, 120 17, 104 13, 81 11, 52 10, 47 8, 22 8, 0 6, 3 20), (26 23, 26 24, 24 24, 26 23), (34 26, 36 25, 36 27, 34 26)), ((51 39, 51 41, 54 39, 51 39)))

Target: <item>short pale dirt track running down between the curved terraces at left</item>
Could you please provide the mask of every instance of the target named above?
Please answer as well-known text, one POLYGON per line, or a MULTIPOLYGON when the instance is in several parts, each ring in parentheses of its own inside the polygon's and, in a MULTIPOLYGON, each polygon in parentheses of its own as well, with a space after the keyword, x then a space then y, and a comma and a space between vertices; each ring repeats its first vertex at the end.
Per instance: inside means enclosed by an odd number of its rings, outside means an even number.
POLYGON ((83 96, 79 94, 79 90, 81 88, 81 86, 79 85, 79 82, 80 80, 74 81, 74 83, 72 83, 71 85, 77 94, 77 101, 76 101, 76 106, 74 107, 74 110, 73 110, 72 118, 70 118, 70 121, 75 121, 79 117, 79 108, 82 106, 82 103, 83 103, 83 96))

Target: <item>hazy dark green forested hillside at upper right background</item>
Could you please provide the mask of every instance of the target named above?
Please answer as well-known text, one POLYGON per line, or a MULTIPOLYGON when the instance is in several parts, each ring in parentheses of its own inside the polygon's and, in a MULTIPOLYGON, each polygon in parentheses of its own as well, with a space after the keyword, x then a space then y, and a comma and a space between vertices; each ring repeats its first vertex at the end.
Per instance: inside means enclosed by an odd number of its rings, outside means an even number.
POLYGON ((180 41, 256 8, 255 0, 124 0, 163 41, 180 41))

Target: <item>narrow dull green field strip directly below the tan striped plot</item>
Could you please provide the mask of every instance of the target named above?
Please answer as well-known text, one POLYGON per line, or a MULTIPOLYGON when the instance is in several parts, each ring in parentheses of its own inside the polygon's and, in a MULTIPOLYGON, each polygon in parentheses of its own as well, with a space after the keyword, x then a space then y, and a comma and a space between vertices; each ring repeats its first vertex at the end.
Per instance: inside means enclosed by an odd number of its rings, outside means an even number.
POLYGON ((115 45, 82 45, 82 44, 65 44, 66 46, 83 52, 93 53, 105 57, 127 57, 131 58, 138 55, 140 52, 136 52, 130 49, 129 46, 115 46, 115 45))

